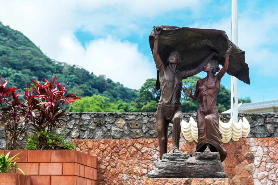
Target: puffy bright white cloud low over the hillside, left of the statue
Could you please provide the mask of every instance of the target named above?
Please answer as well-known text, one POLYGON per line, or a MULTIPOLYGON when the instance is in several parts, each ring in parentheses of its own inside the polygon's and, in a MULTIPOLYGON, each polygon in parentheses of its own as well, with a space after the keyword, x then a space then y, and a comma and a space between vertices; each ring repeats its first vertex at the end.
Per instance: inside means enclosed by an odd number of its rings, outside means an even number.
MULTIPOLYGON (((91 41, 86 49, 73 35, 65 35, 59 45, 58 61, 67 61, 129 88, 139 89, 148 78, 155 78, 155 65, 138 51, 137 44, 111 37, 91 41)), ((154 62, 153 62, 154 63, 154 62)))

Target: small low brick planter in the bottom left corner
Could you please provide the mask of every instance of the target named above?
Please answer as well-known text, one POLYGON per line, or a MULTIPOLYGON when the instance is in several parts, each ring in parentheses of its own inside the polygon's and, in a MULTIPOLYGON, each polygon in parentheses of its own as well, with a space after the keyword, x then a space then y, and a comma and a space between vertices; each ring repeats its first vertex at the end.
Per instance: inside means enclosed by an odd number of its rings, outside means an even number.
POLYGON ((0 185, 30 185, 30 175, 16 173, 0 173, 0 185))

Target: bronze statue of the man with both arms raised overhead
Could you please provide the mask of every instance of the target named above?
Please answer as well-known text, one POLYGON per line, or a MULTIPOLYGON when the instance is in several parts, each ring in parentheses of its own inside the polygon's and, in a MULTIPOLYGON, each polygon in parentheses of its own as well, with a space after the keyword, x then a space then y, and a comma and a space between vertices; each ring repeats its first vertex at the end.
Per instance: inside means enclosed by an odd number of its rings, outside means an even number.
POLYGON ((183 119, 182 106, 180 103, 183 84, 182 80, 201 72, 204 64, 206 64, 206 62, 212 58, 214 52, 211 52, 210 55, 205 58, 204 61, 197 68, 192 70, 180 71, 177 70, 177 64, 181 62, 182 55, 178 51, 172 51, 167 58, 169 65, 166 66, 165 64, 163 64, 158 53, 158 39, 160 31, 161 29, 159 26, 154 26, 155 41, 153 56, 159 73, 159 82, 161 89, 161 96, 156 111, 156 122, 159 140, 159 158, 162 159, 162 155, 167 153, 167 134, 169 123, 173 124, 173 153, 181 153, 179 151, 179 138, 181 129, 180 122, 183 119))

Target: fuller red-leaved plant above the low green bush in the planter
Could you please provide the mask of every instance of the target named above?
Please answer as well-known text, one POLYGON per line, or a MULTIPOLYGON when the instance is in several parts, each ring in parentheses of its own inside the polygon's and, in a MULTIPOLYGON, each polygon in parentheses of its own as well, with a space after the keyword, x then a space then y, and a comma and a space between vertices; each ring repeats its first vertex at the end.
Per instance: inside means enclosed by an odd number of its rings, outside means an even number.
POLYGON ((40 131, 46 131, 50 133, 53 128, 61 126, 64 123, 62 117, 65 115, 65 111, 61 107, 65 103, 73 104, 75 99, 81 99, 74 94, 65 95, 66 84, 62 86, 56 81, 56 76, 52 81, 48 81, 46 78, 44 84, 41 81, 32 80, 32 83, 27 83, 30 86, 25 90, 26 101, 23 106, 28 109, 28 115, 31 125, 36 129, 36 133, 39 137, 40 131), (31 92, 28 93, 27 90, 31 92))

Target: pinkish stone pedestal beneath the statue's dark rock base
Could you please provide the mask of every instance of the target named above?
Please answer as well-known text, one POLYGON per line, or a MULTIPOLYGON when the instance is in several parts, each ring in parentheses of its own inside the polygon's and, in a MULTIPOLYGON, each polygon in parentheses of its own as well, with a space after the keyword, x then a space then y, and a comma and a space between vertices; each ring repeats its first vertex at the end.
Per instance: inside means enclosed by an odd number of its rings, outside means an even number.
POLYGON ((145 178, 144 185, 232 185, 228 178, 145 178))

